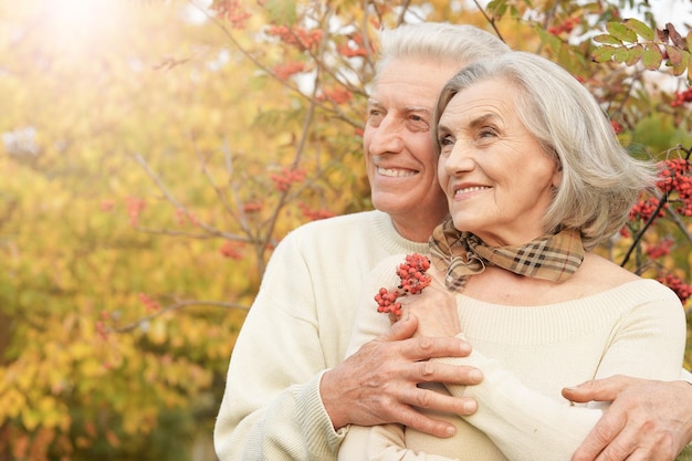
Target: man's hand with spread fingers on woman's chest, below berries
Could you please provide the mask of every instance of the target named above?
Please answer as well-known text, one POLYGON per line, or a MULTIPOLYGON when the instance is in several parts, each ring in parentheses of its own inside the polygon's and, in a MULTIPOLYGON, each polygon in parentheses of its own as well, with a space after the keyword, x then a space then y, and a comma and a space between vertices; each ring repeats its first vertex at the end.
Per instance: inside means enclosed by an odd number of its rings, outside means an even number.
POLYGON ((474 385, 482 379, 475 368, 427 362, 433 357, 465 357, 471 346, 457 338, 412 338, 418 327, 410 315, 390 331, 360 347, 325 373, 319 384, 322 400, 335 428, 348 423, 375 426, 398 422, 437 437, 454 434, 454 427, 421 415, 413 407, 448 413, 471 415, 472 399, 421 389, 420 383, 474 385))

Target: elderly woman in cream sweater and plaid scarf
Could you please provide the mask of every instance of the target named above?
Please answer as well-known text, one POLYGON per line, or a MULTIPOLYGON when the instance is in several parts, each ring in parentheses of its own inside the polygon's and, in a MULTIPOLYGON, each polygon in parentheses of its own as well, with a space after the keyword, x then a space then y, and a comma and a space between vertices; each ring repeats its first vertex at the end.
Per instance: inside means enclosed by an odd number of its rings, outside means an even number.
MULTIPOLYGON (((616 374, 678 379, 685 343, 677 296, 597 255, 654 168, 618 144, 591 95, 566 71, 512 52, 465 67, 438 99, 432 133, 450 218, 430 239, 432 285, 400 297, 418 335, 457 336, 480 385, 426 384, 473 397, 440 439, 397 425, 350 427, 339 459, 569 460, 601 416, 560 396, 616 374)), ((403 255, 365 287, 394 287, 403 255)), ((364 301, 349 353, 389 326, 364 301)), ((386 360, 387 357, 382 357, 386 360)), ((421 385, 423 386, 423 385, 421 385)), ((420 402, 426 407, 426 402, 420 402)))

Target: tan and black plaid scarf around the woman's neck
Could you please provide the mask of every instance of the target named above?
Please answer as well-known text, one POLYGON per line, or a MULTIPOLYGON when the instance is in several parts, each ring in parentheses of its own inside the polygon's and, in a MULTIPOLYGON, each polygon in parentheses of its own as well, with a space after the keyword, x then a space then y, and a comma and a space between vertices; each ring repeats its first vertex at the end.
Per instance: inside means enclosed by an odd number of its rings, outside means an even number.
POLYGON ((491 263, 520 275, 562 282, 584 260, 579 231, 565 229, 518 247, 487 247, 470 232, 454 228, 451 218, 438 226, 429 240, 431 262, 443 274, 450 291, 461 292, 469 275, 491 263))

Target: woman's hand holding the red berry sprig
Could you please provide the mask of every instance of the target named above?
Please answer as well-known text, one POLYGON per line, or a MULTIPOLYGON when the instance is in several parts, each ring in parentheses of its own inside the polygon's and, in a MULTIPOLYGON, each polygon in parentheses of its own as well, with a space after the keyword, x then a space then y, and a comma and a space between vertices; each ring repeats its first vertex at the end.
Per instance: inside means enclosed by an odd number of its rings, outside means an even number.
POLYGON ((432 283, 421 293, 401 296, 401 316, 415 315, 418 318, 416 336, 454 337, 461 333, 457 312, 457 300, 445 287, 432 283))

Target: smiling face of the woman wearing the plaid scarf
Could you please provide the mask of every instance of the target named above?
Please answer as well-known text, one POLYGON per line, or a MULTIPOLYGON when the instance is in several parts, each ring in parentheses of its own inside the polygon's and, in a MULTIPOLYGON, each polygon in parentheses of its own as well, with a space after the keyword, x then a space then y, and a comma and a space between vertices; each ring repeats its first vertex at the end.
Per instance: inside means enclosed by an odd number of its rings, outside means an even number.
POLYGON ((545 233, 543 217, 562 177, 516 115, 516 91, 495 78, 458 93, 437 134, 438 178, 454 226, 495 247, 545 233))

